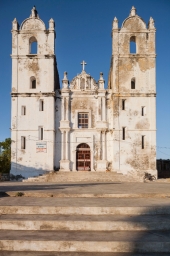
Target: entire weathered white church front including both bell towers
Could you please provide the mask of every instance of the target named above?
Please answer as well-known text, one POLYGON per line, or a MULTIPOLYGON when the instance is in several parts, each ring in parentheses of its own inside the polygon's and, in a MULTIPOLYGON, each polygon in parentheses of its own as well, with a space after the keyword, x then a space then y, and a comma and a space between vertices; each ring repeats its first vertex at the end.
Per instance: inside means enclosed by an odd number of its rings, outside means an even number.
POLYGON ((33 7, 12 27, 11 173, 32 177, 48 171, 117 172, 156 170, 155 26, 132 7, 112 26, 112 56, 105 89, 82 72, 60 86, 55 23, 46 29, 33 7), (130 52, 130 44, 136 52, 130 52), (37 52, 31 47, 37 43, 37 52))

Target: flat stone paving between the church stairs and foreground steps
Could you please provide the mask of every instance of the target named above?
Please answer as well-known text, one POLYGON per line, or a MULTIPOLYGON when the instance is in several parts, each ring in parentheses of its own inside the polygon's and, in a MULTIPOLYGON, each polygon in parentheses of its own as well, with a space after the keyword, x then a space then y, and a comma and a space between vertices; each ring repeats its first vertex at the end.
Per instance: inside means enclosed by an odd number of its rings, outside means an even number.
POLYGON ((12 195, 16 195, 16 192, 22 191, 25 194, 30 192, 30 196, 35 196, 36 193, 41 193, 40 196, 73 196, 76 197, 88 194, 100 195, 104 197, 170 197, 170 183, 136 183, 136 182, 65 182, 65 183, 22 183, 22 182, 2 182, 0 183, 0 192, 14 192, 12 195))

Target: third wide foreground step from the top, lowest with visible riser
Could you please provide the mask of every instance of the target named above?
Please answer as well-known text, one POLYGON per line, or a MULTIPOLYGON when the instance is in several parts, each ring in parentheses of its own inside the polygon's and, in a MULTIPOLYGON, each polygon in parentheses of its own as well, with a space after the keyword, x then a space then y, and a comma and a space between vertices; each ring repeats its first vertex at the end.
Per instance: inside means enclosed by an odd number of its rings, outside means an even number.
POLYGON ((1 250, 170 252, 170 231, 0 231, 1 250))

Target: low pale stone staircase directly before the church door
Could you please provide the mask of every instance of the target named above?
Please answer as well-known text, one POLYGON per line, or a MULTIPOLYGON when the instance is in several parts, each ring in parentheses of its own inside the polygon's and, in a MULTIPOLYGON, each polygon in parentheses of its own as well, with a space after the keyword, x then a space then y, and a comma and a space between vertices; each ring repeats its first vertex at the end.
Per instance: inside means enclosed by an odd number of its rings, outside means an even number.
POLYGON ((38 177, 30 177, 23 182, 132 182, 143 181, 141 177, 132 177, 116 172, 50 172, 38 177))

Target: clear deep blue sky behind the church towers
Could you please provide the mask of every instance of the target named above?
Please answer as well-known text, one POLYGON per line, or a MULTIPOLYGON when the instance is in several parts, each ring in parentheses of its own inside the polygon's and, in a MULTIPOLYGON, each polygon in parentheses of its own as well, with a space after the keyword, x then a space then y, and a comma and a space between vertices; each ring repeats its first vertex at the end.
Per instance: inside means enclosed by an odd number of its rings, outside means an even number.
POLYGON ((56 57, 60 81, 64 71, 71 81, 86 72, 97 81, 104 73, 107 87, 111 59, 111 29, 116 16, 119 27, 132 6, 148 24, 156 27, 157 158, 170 159, 170 0, 0 0, 0 141, 10 137, 11 119, 11 29, 28 18, 33 6, 48 28, 56 25, 56 57))

